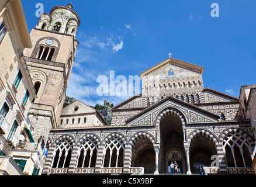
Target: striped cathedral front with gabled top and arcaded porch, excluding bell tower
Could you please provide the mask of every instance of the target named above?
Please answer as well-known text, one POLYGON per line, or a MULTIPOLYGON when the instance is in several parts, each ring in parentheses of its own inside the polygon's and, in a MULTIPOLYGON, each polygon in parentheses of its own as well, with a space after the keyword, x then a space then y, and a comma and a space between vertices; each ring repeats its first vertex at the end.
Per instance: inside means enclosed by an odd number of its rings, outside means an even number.
POLYGON ((203 87, 203 71, 168 58, 140 74, 142 92, 112 108, 110 126, 51 129, 43 174, 168 174, 174 161, 183 174, 199 165, 207 174, 255 174, 250 120, 240 119, 238 98, 203 87))

